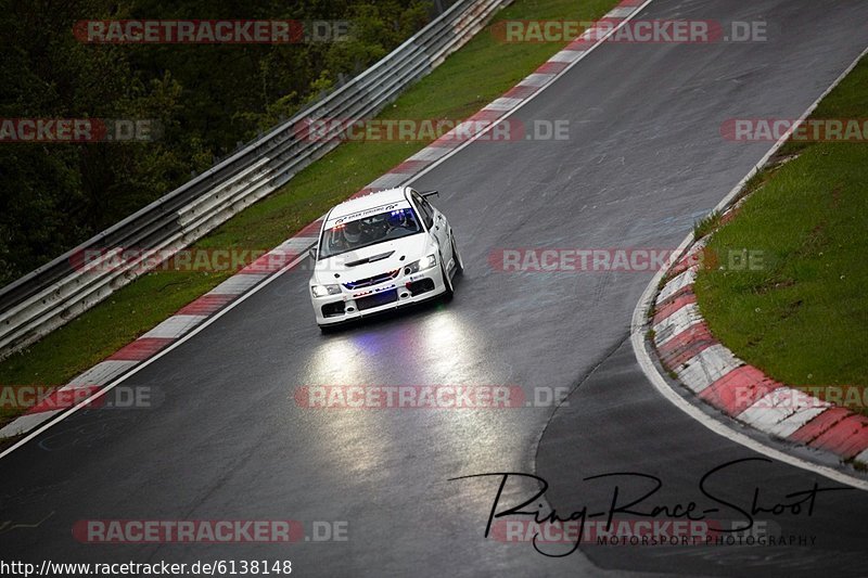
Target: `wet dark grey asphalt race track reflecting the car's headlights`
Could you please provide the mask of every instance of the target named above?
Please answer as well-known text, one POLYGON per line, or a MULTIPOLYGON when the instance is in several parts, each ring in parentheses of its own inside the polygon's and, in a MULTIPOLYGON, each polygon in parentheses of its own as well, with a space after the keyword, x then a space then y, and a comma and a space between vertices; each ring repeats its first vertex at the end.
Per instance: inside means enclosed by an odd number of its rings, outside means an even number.
MULTIPOLYGON (((130 377, 154 410, 79 412, 0 462, 2 560, 292 560, 317 576, 865 575, 868 496, 821 494, 814 515, 779 516, 814 548, 585 548, 545 557, 483 531, 494 479, 545 477, 561 512, 611 499, 595 474, 663 479, 648 503, 703 501, 698 480, 757 454, 656 394, 629 347, 651 273, 507 274, 505 247, 675 247, 768 150, 720 138, 731 117, 797 117, 868 44, 858 1, 655 0, 640 18, 773 23, 768 42, 609 44, 513 118, 567 119, 563 142, 477 142, 419 181, 438 188, 467 273, 448 305, 320 336, 298 268, 130 377), (315 384, 576 387, 569 407, 476 411, 321 411, 315 384), (329 543, 100 545, 79 519, 345 521, 329 543)), ((780 463, 736 466, 715 494, 748 505, 835 486, 780 463)), ((639 491, 638 478, 621 479, 639 491)), ((643 486, 644 487, 644 486, 643 486)), ((510 486, 503 501, 528 488, 510 486)), ((720 513, 726 517, 726 509, 720 513)), ((731 510, 728 512, 731 514, 731 510)), ((553 551, 553 550, 552 550, 553 551)))

